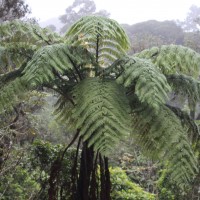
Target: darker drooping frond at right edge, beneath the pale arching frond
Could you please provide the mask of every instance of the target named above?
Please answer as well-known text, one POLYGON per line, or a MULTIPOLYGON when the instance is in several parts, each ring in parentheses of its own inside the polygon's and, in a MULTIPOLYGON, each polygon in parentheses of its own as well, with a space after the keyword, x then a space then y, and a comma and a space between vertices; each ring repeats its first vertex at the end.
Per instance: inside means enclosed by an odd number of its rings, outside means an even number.
POLYGON ((200 82, 191 76, 171 74, 166 75, 176 95, 186 97, 190 105, 195 105, 200 100, 200 82))

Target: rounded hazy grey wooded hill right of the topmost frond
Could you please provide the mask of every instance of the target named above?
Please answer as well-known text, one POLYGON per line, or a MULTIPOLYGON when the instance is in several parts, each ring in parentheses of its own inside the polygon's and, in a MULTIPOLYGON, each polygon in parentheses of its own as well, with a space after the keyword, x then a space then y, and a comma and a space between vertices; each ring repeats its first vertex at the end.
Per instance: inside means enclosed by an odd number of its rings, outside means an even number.
POLYGON ((158 22, 149 20, 133 25, 122 25, 126 30, 136 53, 153 46, 165 44, 183 44, 183 30, 174 21, 158 22))

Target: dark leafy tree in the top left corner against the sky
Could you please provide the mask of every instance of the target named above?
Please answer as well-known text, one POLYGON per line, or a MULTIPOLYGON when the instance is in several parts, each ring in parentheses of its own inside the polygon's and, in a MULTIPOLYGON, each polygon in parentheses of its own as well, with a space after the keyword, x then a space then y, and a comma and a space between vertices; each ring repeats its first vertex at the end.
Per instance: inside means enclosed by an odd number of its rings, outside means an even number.
POLYGON ((24 0, 0 1, 0 22, 6 20, 20 19, 29 12, 29 7, 24 2, 24 0))

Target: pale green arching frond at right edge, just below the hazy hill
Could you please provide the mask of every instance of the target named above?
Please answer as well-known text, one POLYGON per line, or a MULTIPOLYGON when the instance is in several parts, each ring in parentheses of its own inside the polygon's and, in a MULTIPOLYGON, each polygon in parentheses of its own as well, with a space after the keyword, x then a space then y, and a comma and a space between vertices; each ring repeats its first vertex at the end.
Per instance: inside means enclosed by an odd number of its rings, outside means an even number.
POLYGON ((151 59, 164 74, 183 73, 198 77, 200 54, 180 45, 153 47, 135 54, 139 58, 151 59))

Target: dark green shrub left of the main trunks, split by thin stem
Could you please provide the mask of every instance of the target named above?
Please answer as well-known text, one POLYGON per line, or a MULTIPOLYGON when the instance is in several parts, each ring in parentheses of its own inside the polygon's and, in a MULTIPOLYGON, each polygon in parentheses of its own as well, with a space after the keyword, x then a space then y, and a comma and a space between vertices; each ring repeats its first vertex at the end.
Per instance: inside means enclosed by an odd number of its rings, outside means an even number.
MULTIPOLYGON (((54 164, 64 151, 63 145, 52 144, 43 140, 36 140, 31 147, 30 165, 36 172, 34 179, 40 184, 38 199, 48 199, 48 189, 50 188, 50 177, 54 170, 54 164)), ((71 169, 76 155, 75 149, 69 149, 65 153, 63 160, 58 162, 60 171, 56 174, 58 181, 58 196, 62 199, 70 199, 71 190, 71 169)))

